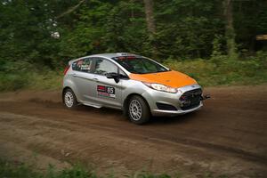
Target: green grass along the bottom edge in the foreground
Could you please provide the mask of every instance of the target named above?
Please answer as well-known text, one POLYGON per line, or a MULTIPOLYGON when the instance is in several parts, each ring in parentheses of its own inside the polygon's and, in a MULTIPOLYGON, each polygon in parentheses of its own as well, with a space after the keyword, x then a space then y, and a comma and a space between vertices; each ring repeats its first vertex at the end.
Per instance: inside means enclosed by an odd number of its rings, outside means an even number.
MULTIPOLYGON (((56 170, 54 166, 48 166, 46 171, 38 171, 32 166, 22 163, 14 163, 0 159, 0 177, 1 178, 116 178, 114 174, 99 176, 93 170, 85 169, 83 166, 75 165, 63 170, 56 170)), ((125 174, 128 178, 182 178, 177 174, 170 176, 168 174, 150 174, 146 172, 136 172, 134 174, 125 174)), ((201 178, 228 178, 226 174, 214 176, 211 173, 199 175, 201 178)))

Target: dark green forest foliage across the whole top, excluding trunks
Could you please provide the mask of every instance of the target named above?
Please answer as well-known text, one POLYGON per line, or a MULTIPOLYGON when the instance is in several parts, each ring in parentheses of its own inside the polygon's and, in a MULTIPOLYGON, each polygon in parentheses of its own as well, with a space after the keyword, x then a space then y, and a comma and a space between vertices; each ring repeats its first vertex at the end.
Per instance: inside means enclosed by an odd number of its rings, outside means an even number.
MULTIPOLYGON (((142 1, 3 1, 0 4, 0 61, 28 61, 58 68, 93 53, 131 52, 164 60, 209 58, 216 36, 226 49, 222 1, 154 2, 150 36, 142 1), (59 32, 60 37, 52 37, 59 32), (155 51, 156 50, 156 51, 155 51)), ((239 50, 254 51, 255 35, 267 30, 265 1, 233 1, 239 50), (255 15, 251 15, 255 14, 255 15)), ((259 48, 261 48, 259 45, 259 48)))

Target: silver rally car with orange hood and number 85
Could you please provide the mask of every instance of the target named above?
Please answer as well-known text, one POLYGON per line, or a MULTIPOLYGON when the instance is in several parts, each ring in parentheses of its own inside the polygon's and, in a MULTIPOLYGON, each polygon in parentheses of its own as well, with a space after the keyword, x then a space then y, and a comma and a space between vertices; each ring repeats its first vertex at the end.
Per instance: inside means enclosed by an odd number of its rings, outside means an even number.
POLYGON ((69 61, 64 71, 62 100, 69 109, 79 104, 122 109, 132 122, 151 116, 174 116, 202 107, 196 80, 133 53, 103 53, 69 61))

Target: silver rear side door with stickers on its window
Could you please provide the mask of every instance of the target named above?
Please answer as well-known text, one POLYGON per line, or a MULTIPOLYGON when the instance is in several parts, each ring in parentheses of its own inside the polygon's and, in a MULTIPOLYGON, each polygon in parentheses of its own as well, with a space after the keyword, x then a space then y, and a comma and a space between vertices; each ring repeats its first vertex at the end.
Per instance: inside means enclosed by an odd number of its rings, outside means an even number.
POLYGON ((93 58, 85 58, 72 63, 72 81, 77 87, 77 97, 83 102, 93 100, 93 58))

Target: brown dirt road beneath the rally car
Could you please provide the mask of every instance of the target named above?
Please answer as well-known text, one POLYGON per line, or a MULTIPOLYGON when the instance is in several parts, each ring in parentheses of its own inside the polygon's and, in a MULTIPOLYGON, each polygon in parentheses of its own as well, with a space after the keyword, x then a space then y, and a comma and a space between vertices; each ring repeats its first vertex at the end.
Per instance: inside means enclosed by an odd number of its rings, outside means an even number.
POLYGON ((99 174, 267 177, 267 85, 207 88, 212 99, 181 117, 131 124, 113 109, 68 110, 57 92, 0 94, 0 156, 99 174))

